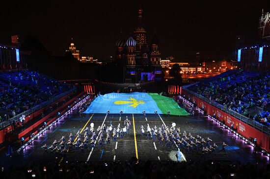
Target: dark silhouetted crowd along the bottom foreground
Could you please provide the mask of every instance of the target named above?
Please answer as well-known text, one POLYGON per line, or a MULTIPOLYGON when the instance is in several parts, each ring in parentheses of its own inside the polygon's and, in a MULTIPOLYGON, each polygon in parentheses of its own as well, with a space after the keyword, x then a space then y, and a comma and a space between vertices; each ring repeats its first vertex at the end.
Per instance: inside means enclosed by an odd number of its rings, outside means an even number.
POLYGON ((233 162, 126 162, 32 163, 11 166, 0 172, 1 179, 269 179, 270 165, 233 162), (33 177, 34 176, 34 177, 33 177))

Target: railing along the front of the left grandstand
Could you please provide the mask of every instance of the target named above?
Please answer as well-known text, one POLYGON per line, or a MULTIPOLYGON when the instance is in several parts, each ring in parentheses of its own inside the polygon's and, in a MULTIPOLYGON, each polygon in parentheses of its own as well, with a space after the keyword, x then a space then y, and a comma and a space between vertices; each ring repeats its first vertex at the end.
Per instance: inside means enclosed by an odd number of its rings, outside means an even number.
POLYGON ((65 96, 67 94, 70 94, 71 92, 73 92, 75 90, 76 90, 76 87, 73 87, 72 89, 70 89, 70 90, 68 90, 68 91, 66 91, 64 93, 61 93, 61 94, 59 94, 57 96, 54 96, 54 98, 52 98, 51 100, 48 100, 46 102, 42 102, 42 103, 36 105, 35 107, 32 107, 31 109, 28 109, 27 111, 24 111, 24 112, 22 112, 22 113, 20 113, 20 114, 18 114, 16 116, 8 119, 7 121, 1 122, 0 123, 0 129, 3 129, 3 128, 9 126, 9 125, 12 125, 13 121, 18 121, 22 115, 28 116, 29 114, 34 113, 35 111, 41 109, 42 107, 45 107, 46 105, 56 101, 59 98, 62 98, 63 96, 65 96))

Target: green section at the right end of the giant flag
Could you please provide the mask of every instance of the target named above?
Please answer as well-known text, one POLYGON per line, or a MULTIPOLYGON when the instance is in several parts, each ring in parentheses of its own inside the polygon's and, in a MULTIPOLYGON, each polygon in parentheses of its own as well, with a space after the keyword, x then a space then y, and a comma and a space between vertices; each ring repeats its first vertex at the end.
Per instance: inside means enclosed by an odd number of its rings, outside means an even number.
POLYGON ((148 93, 148 95, 155 100, 163 114, 167 114, 167 112, 170 111, 171 115, 189 115, 189 113, 184 108, 179 107, 177 102, 175 102, 172 98, 168 98, 157 93, 148 93))

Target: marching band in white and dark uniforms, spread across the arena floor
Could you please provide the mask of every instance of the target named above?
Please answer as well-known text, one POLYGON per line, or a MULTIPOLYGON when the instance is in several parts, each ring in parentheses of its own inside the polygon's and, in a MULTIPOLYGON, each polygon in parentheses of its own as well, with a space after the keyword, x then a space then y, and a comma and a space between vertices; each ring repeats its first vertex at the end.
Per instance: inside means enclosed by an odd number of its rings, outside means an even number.
MULTIPOLYGON (((109 114, 109 110, 107 111, 107 115, 109 114)), ((120 111, 120 116, 122 116, 123 111, 120 111)), ((154 114, 158 114, 158 111, 154 111, 154 114)), ((145 116, 145 111, 142 111, 142 115, 145 116)), ((167 115, 170 115, 170 111, 167 112, 167 115)), ((97 129, 94 128, 94 124, 90 125, 90 128, 85 128, 83 131, 78 130, 76 133, 76 137, 72 133, 70 133, 68 139, 66 140, 65 136, 62 136, 60 140, 54 140, 51 146, 47 146, 45 144, 42 146, 45 151, 58 152, 58 153, 66 153, 66 152, 83 152, 84 150, 92 150, 95 149, 95 144, 98 143, 99 147, 102 147, 106 144, 110 144, 111 138, 114 142, 117 139, 122 139, 124 136, 128 135, 129 129, 131 126, 131 122, 126 117, 124 121, 124 127, 121 128, 120 124, 114 127, 112 124, 106 126, 99 126, 97 129), (84 132, 84 134, 83 134, 84 132), (83 135, 82 135, 83 134, 83 135)), ((167 126, 162 126, 158 128, 154 126, 150 128, 148 125, 144 127, 143 125, 140 127, 141 136, 146 136, 147 139, 151 139, 155 141, 159 141, 159 144, 169 146, 177 146, 179 150, 185 150, 186 152, 201 152, 203 154, 213 153, 216 151, 218 146, 216 143, 208 137, 206 139, 202 138, 199 135, 192 136, 190 133, 187 134, 186 131, 181 133, 180 128, 175 128, 176 124, 173 123, 172 127, 169 128, 167 126)), ((222 144, 222 150, 219 152, 225 152, 225 142, 222 144)), ((205 155, 202 155, 205 157, 205 155)))

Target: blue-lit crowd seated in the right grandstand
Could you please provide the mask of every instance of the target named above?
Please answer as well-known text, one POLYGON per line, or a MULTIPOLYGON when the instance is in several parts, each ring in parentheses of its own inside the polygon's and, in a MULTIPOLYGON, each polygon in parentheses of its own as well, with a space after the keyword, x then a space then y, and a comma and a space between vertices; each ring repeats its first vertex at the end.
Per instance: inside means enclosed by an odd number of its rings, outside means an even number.
MULTIPOLYGON (((209 100, 218 102, 238 113, 253 118, 248 109, 270 105, 270 74, 246 75, 247 72, 237 71, 211 81, 200 82, 189 89, 209 100)), ((270 125, 269 112, 261 112, 254 116, 255 120, 270 125), (267 115, 268 114, 268 115, 267 115)))

